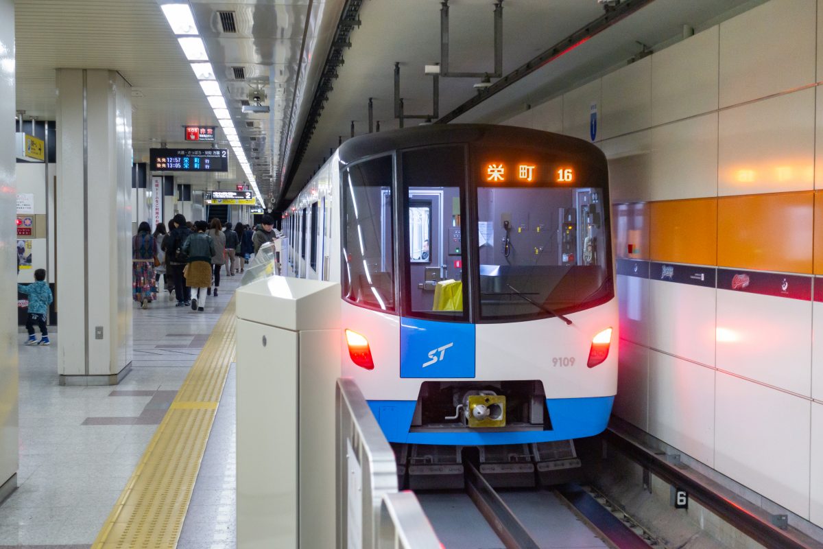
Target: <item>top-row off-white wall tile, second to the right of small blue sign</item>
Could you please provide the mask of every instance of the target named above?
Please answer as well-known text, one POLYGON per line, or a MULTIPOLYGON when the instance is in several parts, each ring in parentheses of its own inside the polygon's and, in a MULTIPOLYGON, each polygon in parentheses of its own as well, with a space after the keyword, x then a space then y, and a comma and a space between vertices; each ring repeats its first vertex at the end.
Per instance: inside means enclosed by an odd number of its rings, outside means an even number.
POLYGON ((718 40, 713 26, 653 54, 653 125, 718 108, 718 40))

